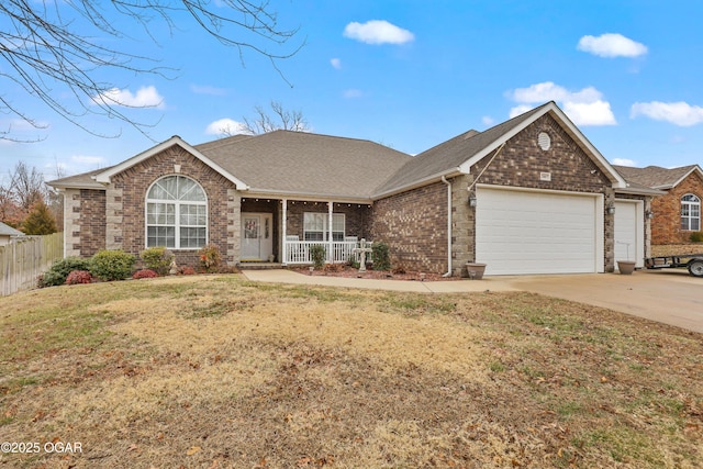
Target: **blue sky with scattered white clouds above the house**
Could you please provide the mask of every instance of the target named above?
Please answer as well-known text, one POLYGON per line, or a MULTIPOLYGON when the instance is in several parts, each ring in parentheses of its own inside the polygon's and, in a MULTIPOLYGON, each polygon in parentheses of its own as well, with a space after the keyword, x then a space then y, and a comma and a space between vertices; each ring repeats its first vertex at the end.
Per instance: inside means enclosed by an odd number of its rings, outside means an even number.
MULTIPOLYGON (((180 16, 172 35, 153 23, 158 43, 138 40, 140 31, 120 42, 174 69, 166 78, 101 77, 115 85, 114 98, 152 105, 129 111, 153 124, 150 138, 108 118, 83 123, 120 136, 90 135, 0 81, 0 93, 46 126, 26 129, 0 113, 0 127, 14 137, 42 138, 0 141, 0 178, 20 159, 52 179, 57 166, 72 175, 114 165, 171 135, 191 144, 215 139, 223 125, 216 122, 236 126, 271 100, 302 112, 312 132, 410 154, 554 100, 611 163, 703 164, 703 2, 272 0, 270 7, 281 27, 300 29, 272 51, 304 43, 277 63, 280 74, 180 16)), ((114 24, 134 27, 116 15, 114 24)))

